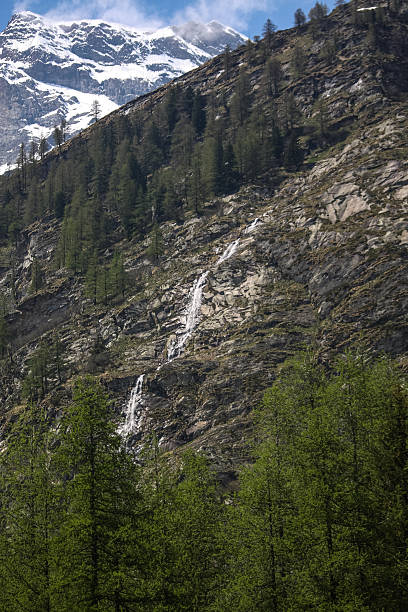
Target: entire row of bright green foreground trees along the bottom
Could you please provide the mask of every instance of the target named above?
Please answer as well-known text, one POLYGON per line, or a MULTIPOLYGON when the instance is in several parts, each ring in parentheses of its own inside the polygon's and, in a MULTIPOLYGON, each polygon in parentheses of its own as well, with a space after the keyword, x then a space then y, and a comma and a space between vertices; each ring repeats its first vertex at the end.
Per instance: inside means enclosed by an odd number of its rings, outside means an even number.
POLYGON ((407 608, 408 393, 389 360, 288 360, 225 490, 192 451, 135 456, 78 379, 31 404, 0 462, 2 610, 407 608))

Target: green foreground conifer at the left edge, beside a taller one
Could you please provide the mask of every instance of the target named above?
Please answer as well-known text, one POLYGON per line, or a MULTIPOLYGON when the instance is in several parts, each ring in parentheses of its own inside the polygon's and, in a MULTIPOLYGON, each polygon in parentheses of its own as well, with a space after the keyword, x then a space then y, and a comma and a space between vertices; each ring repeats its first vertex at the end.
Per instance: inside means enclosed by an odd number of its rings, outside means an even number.
POLYGON ((51 612, 58 556, 50 424, 28 406, 0 458, 0 608, 51 612))

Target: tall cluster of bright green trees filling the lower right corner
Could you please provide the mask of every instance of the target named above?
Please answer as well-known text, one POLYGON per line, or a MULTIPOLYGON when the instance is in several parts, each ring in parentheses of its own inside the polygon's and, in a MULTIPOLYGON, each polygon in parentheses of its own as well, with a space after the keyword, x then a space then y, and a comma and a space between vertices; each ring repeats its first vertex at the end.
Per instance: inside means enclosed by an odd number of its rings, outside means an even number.
POLYGON ((386 359, 292 360, 232 511, 224 609, 403 610, 408 397, 386 359), (391 535, 392 534, 392 535, 391 535))

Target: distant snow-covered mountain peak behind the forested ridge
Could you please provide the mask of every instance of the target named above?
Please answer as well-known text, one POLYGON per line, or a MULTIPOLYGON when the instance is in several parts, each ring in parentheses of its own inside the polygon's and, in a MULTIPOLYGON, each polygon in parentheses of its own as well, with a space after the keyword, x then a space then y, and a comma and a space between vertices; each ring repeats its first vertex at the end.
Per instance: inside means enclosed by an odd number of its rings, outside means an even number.
POLYGON ((48 137, 62 118, 70 136, 87 127, 95 99, 107 114, 244 40, 215 21, 143 32, 17 13, 0 34, 0 168, 15 162, 21 142, 48 137))

